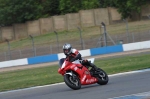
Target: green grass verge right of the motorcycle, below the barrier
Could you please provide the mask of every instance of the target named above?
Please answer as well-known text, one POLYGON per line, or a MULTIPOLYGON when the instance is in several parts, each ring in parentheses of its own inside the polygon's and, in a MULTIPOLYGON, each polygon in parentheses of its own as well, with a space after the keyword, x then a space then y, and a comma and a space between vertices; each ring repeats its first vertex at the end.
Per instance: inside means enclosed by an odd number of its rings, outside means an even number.
POLYGON ((103 61, 96 61, 95 64, 102 67, 109 74, 127 72, 139 69, 150 68, 150 55, 126 56, 103 61))

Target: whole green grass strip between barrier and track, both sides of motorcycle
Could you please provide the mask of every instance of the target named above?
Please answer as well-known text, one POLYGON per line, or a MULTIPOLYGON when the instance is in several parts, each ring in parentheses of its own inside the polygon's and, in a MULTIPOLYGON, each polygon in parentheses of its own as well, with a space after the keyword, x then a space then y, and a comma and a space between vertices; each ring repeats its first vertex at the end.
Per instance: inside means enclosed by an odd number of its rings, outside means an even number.
MULTIPOLYGON (((108 74, 127 72, 150 68, 150 54, 139 56, 125 56, 96 60, 95 65, 108 74)), ((8 91, 39 85, 63 82, 63 77, 57 72, 58 66, 33 68, 0 73, 0 91, 8 91)))

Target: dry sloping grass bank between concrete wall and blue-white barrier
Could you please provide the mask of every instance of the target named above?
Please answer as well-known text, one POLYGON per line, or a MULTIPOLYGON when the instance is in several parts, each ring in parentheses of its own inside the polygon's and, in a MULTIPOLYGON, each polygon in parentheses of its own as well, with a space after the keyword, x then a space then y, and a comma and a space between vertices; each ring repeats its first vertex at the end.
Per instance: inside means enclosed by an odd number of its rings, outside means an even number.
MULTIPOLYGON (((146 21, 137 21, 128 23, 129 32, 140 33, 142 31, 149 31, 150 20, 146 21)), ((114 25, 108 25, 107 32, 111 35, 117 35, 121 33, 126 33, 126 24, 118 23, 114 25)), ((100 26, 82 28, 82 37, 84 40, 92 39, 99 37, 100 33, 103 33, 103 29, 100 26)), ((78 41, 80 38, 79 30, 76 28, 69 31, 59 31, 58 32, 59 41, 64 44, 70 41, 78 41)), ((56 35, 54 32, 43 34, 40 36, 34 37, 35 46, 44 46, 44 45, 56 45, 56 35)), ((31 39, 23 38, 19 40, 10 41, 11 50, 20 50, 26 48, 32 48, 31 39)), ((5 52, 8 50, 8 45, 6 42, 0 43, 0 51, 5 52)))

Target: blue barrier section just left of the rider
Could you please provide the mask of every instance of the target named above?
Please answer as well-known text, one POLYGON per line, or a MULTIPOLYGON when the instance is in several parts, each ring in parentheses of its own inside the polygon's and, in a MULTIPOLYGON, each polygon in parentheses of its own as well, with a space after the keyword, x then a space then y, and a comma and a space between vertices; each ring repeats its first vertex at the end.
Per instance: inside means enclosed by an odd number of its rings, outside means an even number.
POLYGON ((45 62, 53 62, 58 60, 57 54, 52 55, 44 55, 44 56, 37 56, 28 58, 28 64, 38 64, 38 63, 45 63, 45 62))

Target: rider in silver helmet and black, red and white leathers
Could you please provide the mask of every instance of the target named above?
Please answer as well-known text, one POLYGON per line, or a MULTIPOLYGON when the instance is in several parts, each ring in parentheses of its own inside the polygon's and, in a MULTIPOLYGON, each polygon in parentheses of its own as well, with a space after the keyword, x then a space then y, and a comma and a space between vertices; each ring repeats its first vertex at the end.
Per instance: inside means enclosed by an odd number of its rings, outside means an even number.
MULTIPOLYGON (((78 59, 82 60, 82 57, 81 57, 81 54, 79 53, 79 51, 77 49, 72 48, 71 44, 68 44, 68 43, 64 44, 63 45, 63 52, 66 55, 66 58, 70 62, 73 62, 73 61, 78 60, 78 59)), ((60 66, 62 66, 62 64, 66 58, 60 59, 60 61, 59 61, 60 66)), ((88 60, 83 60, 82 64, 91 66, 95 70, 97 70, 97 67, 94 64, 92 64, 91 62, 89 62, 88 60)))

